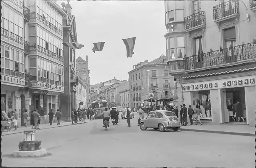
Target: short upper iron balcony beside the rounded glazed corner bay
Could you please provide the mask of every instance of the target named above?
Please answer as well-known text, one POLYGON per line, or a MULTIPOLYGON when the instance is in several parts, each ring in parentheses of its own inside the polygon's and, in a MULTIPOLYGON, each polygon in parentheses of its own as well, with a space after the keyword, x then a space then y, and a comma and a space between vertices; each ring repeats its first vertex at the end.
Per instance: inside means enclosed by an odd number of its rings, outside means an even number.
POLYGON ((186 32, 193 31, 196 29, 201 29, 202 27, 206 27, 204 11, 187 16, 186 18, 184 18, 184 20, 185 20, 184 29, 186 32))

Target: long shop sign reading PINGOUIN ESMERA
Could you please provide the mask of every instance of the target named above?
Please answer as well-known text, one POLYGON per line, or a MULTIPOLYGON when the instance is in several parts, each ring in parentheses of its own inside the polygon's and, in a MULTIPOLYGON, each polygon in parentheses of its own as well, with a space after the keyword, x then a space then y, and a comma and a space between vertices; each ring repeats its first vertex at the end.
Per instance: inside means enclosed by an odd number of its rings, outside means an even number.
MULTIPOLYGON (((235 78, 234 78, 235 79, 235 78)), ((220 89, 220 88, 225 88, 225 87, 229 87, 229 86, 234 86, 234 87, 242 87, 242 86, 246 86, 246 85, 255 85, 255 78, 247 78, 247 79, 237 79, 237 80, 232 80, 228 79, 228 80, 215 80, 214 82, 204 82, 202 84, 197 83, 197 84, 190 84, 190 85, 186 85, 184 84, 184 86, 182 86, 182 90, 206 90, 206 89, 220 89)))

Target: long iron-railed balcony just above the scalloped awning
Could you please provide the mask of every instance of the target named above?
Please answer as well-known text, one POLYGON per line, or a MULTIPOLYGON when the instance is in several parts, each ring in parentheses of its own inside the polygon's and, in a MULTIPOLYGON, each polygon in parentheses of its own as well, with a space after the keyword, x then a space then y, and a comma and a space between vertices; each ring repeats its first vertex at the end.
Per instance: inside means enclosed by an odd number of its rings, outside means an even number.
POLYGON ((230 46, 226 49, 210 51, 200 55, 186 57, 184 61, 184 70, 192 70, 208 66, 236 63, 243 60, 256 58, 256 41, 253 43, 230 46))

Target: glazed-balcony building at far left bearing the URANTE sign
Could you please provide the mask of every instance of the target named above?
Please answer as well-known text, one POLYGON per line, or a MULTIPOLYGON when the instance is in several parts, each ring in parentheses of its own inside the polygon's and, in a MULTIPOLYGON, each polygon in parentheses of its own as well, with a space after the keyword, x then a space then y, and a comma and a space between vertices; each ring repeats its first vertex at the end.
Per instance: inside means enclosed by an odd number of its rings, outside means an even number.
POLYGON ((25 41, 30 12, 23 1, 3 1, 1 5, 1 110, 17 109, 21 119, 18 125, 23 126, 22 114, 31 104, 28 38, 25 41))

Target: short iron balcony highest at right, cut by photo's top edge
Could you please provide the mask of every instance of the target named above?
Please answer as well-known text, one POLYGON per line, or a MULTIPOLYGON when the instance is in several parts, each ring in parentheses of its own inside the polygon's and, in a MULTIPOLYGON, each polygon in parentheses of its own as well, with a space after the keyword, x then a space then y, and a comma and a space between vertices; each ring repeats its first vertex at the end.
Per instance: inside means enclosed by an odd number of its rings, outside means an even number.
POLYGON ((239 16, 238 0, 224 2, 213 7, 213 20, 215 22, 235 18, 237 16, 239 16))

